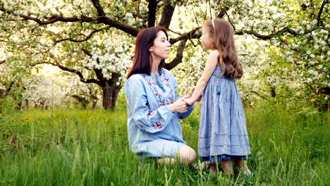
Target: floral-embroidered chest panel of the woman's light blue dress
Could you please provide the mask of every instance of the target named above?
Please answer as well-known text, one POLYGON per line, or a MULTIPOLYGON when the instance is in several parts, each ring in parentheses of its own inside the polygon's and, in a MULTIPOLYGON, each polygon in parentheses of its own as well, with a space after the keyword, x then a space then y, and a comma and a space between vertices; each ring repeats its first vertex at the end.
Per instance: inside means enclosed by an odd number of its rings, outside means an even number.
POLYGON ((161 80, 160 82, 164 85, 164 87, 167 87, 167 91, 169 92, 170 95, 164 94, 163 90, 157 85, 156 78, 157 75, 155 76, 147 76, 143 75, 145 78, 145 81, 149 85, 149 87, 152 89, 154 92, 154 96, 157 99, 157 102, 159 103, 159 106, 166 106, 168 104, 173 104, 175 100, 175 93, 173 91, 173 86, 170 83, 169 77, 166 75, 165 70, 161 69, 161 76, 159 77, 161 80))

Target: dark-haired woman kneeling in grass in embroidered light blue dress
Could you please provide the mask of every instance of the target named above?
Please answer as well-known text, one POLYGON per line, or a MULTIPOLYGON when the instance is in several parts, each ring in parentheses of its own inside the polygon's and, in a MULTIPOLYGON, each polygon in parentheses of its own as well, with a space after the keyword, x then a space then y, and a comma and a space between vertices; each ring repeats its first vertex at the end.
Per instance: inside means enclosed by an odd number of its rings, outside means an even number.
POLYGON ((169 57, 170 46, 166 30, 161 27, 138 33, 133 66, 124 87, 128 142, 138 156, 157 158, 158 163, 192 163, 196 153, 183 141, 179 118, 188 117, 193 106, 176 98, 176 79, 161 68, 169 57))

